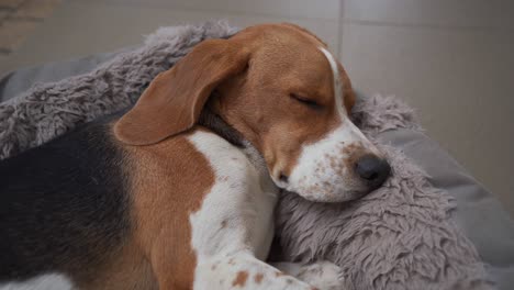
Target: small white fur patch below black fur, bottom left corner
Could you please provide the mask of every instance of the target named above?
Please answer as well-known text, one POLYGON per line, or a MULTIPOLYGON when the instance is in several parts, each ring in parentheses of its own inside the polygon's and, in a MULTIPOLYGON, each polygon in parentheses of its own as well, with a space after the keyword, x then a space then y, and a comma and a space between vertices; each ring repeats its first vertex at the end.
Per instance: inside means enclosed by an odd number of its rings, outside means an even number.
POLYGON ((0 290, 71 290, 71 281, 64 275, 48 274, 23 282, 0 283, 0 290))

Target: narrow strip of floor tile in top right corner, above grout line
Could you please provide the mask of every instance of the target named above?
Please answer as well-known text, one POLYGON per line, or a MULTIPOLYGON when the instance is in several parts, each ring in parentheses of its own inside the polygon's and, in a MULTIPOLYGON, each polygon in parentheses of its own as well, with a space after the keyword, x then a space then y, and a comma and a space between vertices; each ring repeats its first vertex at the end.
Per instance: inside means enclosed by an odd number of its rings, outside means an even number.
POLYGON ((514 29, 511 0, 343 0, 344 18, 413 25, 514 29))

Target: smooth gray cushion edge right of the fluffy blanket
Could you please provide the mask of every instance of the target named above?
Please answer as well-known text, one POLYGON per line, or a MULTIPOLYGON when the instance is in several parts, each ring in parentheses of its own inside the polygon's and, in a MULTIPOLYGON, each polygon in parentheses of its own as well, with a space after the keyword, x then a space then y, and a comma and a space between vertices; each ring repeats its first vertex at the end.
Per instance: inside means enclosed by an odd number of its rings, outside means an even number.
POLYGON ((514 286, 514 222, 500 202, 435 141, 410 130, 380 134, 401 148, 457 201, 454 221, 474 244, 500 289, 514 286))

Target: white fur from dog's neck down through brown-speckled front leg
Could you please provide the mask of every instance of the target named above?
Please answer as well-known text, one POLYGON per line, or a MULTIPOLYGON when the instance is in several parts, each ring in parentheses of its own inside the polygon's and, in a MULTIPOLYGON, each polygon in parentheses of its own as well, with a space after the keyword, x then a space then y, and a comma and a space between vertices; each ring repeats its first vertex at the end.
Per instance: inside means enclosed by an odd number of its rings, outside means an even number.
POLYGON ((190 215, 194 289, 312 289, 262 261, 273 236, 278 188, 260 155, 212 133, 197 132, 189 140, 215 176, 200 210, 190 215))

